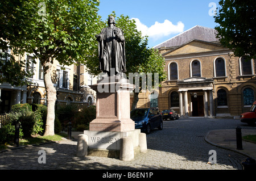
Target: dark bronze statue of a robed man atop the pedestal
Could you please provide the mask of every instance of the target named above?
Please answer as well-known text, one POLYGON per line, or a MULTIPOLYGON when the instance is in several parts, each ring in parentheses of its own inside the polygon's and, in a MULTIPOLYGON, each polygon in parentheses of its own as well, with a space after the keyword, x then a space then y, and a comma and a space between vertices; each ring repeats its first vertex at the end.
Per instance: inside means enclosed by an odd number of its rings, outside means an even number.
POLYGON ((115 69, 115 75, 126 72, 126 59, 125 37, 121 28, 115 26, 114 16, 109 16, 108 25, 108 27, 102 29, 99 35, 96 35, 96 38, 100 70, 110 76, 110 69, 113 68, 115 69))

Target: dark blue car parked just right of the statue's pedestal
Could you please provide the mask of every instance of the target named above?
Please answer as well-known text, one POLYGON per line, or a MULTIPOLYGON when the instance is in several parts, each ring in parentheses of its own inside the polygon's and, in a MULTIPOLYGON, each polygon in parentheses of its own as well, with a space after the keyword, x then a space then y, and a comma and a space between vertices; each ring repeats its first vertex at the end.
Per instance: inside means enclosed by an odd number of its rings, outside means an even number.
POLYGON ((163 129, 163 119, 158 108, 136 108, 130 112, 131 119, 135 122, 135 129, 149 134, 151 129, 163 129))

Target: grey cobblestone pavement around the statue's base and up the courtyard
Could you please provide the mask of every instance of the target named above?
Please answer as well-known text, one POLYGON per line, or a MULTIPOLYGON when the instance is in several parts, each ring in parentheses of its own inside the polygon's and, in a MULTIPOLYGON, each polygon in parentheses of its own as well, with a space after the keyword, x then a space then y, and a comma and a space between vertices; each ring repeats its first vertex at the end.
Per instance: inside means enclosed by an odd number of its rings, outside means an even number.
POLYGON ((217 148, 204 140, 208 131, 248 127, 240 120, 190 118, 164 121, 163 130, 147 135, 147 154, 136 155, 134 161, 115 158, 76 157, 75 140, 63 140, 39 146, 27 146, 0 153, 0 169, 200 169, 241 170, 245 155, 217 148), (38 163, 39 150, 46 151, 46 163, 38 163), (207 164, 209 151, 216 150, 217 163, 207 164))

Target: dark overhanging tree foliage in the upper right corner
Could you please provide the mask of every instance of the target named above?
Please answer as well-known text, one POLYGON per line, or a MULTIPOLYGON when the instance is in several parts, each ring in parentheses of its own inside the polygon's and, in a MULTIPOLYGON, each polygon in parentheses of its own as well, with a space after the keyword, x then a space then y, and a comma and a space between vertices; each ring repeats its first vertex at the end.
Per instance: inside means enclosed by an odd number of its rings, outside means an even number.
POLYGON ((221 0, 215 22, 220 43, 234 50, 237 57, 256 57, 256 1, 221 0))

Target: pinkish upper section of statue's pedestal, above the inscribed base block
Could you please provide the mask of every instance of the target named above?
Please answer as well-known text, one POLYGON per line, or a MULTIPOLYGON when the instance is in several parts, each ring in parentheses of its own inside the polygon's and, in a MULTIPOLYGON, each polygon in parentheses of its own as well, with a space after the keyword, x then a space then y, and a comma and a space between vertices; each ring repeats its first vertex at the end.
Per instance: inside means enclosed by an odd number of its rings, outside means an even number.
POLYGON ((130 119, 130 91, 135 89, 129 80, 121 77, 105 77, 90 86, 96 91, 96 119, 90 123, 90 131, 126 132, 135 129, 130 119))

